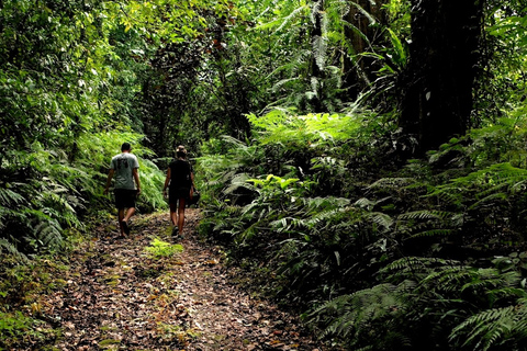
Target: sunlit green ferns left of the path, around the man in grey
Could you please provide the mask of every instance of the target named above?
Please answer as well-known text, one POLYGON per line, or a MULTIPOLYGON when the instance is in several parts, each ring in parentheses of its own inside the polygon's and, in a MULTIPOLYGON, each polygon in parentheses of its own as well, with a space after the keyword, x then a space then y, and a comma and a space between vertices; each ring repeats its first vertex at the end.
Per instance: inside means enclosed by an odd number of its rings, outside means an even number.
POLYGON ((114 131, 79 137, 75 159, 38 143, 31 151, 8 152, 2 160, 0 186, 0 248, 18 259, 65 248, 67 230, 85 231, 85 216, 111 206, 102 194, 108 165, 125 140, 134 143, 139 158, 144 193, 138 208, 166 205, 158 189, 164 176, 148 160, 152 152, 138 144, 141 136, 114 131))

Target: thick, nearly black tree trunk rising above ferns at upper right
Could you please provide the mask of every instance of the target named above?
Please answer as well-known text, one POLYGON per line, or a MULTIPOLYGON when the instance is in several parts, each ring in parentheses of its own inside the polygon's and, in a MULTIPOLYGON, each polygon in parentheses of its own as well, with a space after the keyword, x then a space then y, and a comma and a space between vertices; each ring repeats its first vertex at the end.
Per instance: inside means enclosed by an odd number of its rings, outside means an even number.
POLYGON ((472 111, 482 3, 412 0, 410 61, 401 76, 400 126, 417 155, 464 135, 472 111))

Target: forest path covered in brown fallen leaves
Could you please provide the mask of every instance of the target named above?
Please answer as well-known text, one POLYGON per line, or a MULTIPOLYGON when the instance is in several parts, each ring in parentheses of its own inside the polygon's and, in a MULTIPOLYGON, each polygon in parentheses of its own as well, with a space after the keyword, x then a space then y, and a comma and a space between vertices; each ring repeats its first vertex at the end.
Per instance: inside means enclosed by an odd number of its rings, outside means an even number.
POLYGON ((221 249, 195 235, 187 211, 181 253, 153 258, 154 238, 172 242, 169 216, 135 216, 116 239, 115 224, 76 250, 67 286, 47 296, 60 316, 59 350, 322 350, 299 320, 229 282, 221 249))

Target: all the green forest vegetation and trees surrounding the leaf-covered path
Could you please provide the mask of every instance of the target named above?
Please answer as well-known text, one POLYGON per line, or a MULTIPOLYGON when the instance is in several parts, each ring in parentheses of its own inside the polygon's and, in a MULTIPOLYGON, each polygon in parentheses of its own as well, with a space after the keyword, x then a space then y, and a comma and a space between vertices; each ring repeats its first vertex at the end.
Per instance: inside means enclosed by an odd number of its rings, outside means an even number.
POLYGON ((322 338, 525 350, 526 33, 520 0, 0 0, 0 336, 130 141, 139 211, 184 144, 200 234, 322 338))

